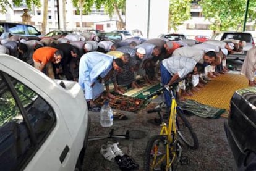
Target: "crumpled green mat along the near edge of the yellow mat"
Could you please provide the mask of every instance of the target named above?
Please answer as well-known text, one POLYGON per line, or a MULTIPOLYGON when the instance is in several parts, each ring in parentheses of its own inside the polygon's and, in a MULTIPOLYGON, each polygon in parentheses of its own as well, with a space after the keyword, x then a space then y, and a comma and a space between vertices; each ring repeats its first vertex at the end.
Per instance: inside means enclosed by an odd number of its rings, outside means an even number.
POLYGON ((226 109, 218 109, 190 99, 180 102, 179 106, 184 112, 211 119, 219 118, 226 111, 226 109))

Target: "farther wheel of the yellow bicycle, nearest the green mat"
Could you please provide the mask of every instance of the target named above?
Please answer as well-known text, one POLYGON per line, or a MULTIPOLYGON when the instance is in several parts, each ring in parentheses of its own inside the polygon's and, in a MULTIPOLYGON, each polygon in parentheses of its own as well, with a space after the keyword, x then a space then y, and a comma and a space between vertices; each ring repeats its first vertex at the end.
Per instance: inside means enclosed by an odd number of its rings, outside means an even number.
POLYGON ((198 149, 197 135, 194 133, 189 120, 182 114, 181 109, 177 109, 177 133, 190 149, 198 149))

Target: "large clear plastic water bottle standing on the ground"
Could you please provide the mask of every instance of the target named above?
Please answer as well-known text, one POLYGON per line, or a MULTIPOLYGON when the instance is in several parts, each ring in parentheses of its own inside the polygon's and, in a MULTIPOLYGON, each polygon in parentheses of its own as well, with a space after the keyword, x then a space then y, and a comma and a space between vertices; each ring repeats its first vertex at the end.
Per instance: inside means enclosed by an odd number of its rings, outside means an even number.
POLYGON ((100 109, 101 127, 111 127, 113 125, 113 111, 109 106, 109 101, 105 101, 100 109))

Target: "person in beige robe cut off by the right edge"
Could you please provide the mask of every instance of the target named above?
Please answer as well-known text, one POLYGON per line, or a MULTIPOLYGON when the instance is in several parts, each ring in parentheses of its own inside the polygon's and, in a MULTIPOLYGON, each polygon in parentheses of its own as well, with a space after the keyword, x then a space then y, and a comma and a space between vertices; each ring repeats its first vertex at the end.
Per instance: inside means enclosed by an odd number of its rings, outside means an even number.
POLYGON ((256 47, 247 51, 244 63, 242 64, 241 73, 249 80, 249 86, 256 86, 254 74, 256 71, 256 47))

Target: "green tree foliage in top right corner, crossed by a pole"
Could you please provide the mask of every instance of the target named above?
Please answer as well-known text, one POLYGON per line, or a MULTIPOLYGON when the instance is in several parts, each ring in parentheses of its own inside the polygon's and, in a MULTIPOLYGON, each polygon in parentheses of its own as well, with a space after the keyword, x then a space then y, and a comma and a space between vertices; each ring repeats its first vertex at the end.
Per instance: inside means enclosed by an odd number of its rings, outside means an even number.
MULTIPOLYGON (((244 23, 246 2, 247 0, 202 0, 199 3, 203 9, 203 16, 211 22, 211 30, 241 31, 244 23)), ((255 20, 255 2, 255 0, 250 0, 248 21, 255 20)))

